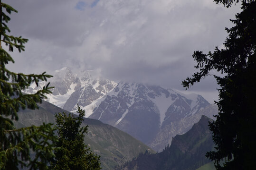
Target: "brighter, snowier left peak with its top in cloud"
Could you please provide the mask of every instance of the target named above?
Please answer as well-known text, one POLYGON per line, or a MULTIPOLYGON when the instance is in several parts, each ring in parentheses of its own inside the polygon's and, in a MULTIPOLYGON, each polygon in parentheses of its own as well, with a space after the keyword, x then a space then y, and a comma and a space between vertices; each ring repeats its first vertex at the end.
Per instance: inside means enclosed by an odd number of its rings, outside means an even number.
MULTIPOLYGON (((46 101, 68 111, 76 110, 76 104, 82 108, 89 104, 94 106, 95 100, 102 98, 117 85, 114 81, 95 76, 93 70, 86 70, 77 75, 70 68, 61 68, 56 70, 53 76, 50 86, 55 88, 52 94, 47 95, 46 101)), ((33 83, 24 92, 35 93, 44 85, 45 82, 40 82, 37 87, 33 83)))

